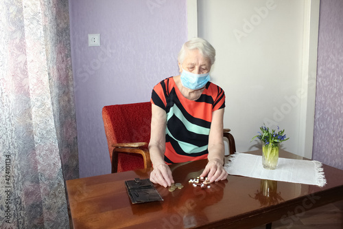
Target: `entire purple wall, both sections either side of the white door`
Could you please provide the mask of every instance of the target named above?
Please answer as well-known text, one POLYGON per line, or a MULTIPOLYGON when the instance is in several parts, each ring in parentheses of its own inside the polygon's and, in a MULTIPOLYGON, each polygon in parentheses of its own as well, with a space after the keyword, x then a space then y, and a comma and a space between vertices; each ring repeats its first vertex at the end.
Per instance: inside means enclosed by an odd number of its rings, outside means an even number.
MULTIPOLYGON (((320 2, 314 160, 343 169, 343 1, 320 2)), ((80 177, 110 173, 102 107, 150 100, 178 74, 187 40, 186 1, 72 0, 71 53, 80 177), (101 34, 88 47, 87 34, 101 34)))

